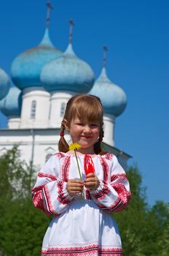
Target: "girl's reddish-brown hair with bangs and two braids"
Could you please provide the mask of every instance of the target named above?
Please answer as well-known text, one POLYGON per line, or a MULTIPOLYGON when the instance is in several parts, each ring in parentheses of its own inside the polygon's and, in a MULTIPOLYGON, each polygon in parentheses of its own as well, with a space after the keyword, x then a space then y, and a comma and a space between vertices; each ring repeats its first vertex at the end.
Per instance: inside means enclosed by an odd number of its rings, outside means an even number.
POLYGON ((93 95, 77 94, 68 100, 65 115, 60 127, 60 140, 58 143, 59 151, 67 152, 68 143, 64 138, 64 130, 69 127, 74 118, 86 118, 87 121, 100 122, 100 135, 98 141, 94 145, 95 154, 105 154, 101 150, 101 140, 103 140, 103 106, 101 99, 93 95))

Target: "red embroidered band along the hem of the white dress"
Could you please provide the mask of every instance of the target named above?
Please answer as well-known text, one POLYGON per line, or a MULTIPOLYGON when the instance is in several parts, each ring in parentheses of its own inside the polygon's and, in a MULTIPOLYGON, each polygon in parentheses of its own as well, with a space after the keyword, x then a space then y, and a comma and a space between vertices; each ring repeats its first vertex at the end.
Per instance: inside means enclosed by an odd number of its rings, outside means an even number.
POLYGON ((102 256, 122 256, 122 248, 99 248, 97 244, 81 247, 59 247, 42 250, 41 256, 87 256, 87 255, 102 255, 102 256))

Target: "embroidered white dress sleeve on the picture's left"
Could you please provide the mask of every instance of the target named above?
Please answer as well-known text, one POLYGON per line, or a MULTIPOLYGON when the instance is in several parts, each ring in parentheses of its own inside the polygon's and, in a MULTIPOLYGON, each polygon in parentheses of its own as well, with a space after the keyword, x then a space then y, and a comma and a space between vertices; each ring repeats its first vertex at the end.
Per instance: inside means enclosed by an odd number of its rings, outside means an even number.
POLYGON ((47 215, 61 214, 74 199, 68 195, 67 182, 60 180, 59 170, 59 158, 53 155, 38 173, 32 189, 34 206, 41 208, 47 215))

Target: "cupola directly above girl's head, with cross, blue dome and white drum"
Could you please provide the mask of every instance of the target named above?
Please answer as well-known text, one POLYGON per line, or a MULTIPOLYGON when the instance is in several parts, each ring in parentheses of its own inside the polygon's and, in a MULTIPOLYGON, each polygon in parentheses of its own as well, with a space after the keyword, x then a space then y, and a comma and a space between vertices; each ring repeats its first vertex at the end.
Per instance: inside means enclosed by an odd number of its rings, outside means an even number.
POLYGON ((60 127, 68 99, 74 94, 87 93, 93 86, 94 73, 91 67, 79 59, 72 48, 73 20, 70 23, 68 48, 63 56, 48 62, 41 73, 44 89, 51 93, 50 124, 60 127))

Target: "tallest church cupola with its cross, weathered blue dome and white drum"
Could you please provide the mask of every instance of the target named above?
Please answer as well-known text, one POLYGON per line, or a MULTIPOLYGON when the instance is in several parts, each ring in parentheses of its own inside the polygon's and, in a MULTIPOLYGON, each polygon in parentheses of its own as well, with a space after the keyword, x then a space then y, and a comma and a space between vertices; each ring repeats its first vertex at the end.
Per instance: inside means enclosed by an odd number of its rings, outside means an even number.
POLYGON ((12 62, 12 80, 23 91, 21 128, 42 128, 48 126, 50 93, 42 87, 40 74, 48 61, 58 58, 63 54, 52 45, 50 40, 49 23, 51 9, 50 1, 48 1, 47 26, 42 42, 37 47, 21 53, 12 62))

